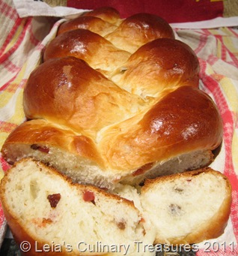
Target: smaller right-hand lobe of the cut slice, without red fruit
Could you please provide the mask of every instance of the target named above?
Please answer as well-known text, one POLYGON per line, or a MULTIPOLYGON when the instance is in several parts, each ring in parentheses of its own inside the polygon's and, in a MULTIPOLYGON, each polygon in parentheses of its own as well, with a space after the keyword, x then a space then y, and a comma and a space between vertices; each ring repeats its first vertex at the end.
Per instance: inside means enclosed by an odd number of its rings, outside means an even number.
POLYGON ((231 212, 231 184, 210 167, 148 179, 141 204, 156 243, 192 244, 222 235, 231 212))

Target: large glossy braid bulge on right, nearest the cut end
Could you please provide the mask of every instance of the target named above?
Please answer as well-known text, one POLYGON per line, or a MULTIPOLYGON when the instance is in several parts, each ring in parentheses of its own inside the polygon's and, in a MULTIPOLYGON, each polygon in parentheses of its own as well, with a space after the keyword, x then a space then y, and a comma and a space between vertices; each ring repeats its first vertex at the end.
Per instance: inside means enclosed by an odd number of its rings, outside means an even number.
POLYGON ((102 155, 110 166, 128 170, 199 149, 216 149, 222 142, 222 119, 208 95, 183 86, 101 136, 102 155))

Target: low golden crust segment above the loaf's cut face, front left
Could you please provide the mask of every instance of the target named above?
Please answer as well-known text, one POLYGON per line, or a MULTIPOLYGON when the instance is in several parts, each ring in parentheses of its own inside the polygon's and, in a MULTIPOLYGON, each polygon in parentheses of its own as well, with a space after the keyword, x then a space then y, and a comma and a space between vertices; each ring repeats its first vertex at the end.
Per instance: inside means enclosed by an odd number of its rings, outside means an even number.
MULTIPOLYGON (((11 154, 7 147, 18 143, 28 145, 29 148, 35 146, 35 149, 41 145, 45 148, 55 147, 63 152, 90 159, 102 168, 105 167, 103 159, 91 138, 55 126, 43 119, 35 119, 19 125, 5 140, 1 149, 2 156, 6 159, 9 158, 11 154)), ((10 158, 10 162, 16 160, 16 158, 10 158)))

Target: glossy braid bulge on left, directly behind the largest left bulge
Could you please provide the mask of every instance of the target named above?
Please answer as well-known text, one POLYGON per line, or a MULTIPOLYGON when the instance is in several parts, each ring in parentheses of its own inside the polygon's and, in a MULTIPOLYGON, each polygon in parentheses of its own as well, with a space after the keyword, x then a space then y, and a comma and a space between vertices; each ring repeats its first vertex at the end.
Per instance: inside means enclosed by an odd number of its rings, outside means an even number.
POLYGON ((64 32, 50 41, 43 53, 43 60, 65 56, 83 59, 97 70, 111 71, 126 62, 129 53, 94 32, 76 29, 64 32))

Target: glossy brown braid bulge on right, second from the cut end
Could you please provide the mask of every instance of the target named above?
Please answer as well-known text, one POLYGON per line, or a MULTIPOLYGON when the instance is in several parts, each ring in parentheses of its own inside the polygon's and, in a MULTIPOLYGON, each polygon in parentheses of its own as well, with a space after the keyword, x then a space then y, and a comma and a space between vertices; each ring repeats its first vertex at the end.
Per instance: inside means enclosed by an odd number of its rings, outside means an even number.
POLYGON ((169 93, 166 89, 198 87, 199 63, 193 50, 182 41, 159 38, 140 47, 111 78, 143 98, 162 98, 159 93, 169 93))

